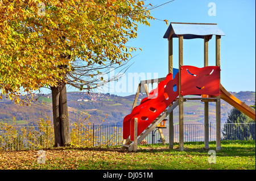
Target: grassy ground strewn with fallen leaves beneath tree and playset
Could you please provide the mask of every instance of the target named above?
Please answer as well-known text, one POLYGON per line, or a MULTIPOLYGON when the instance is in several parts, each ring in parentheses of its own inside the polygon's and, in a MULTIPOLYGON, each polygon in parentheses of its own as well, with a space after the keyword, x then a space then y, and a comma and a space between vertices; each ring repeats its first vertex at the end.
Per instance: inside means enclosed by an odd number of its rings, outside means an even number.
POLYGON ((209 163, 203 142, 185 142, 169 150, 168 145, 139 145, 137 153, 112 148, 55 148, 46 151, 46 162, 37 163, 37 150, 0 152, 0 169, 86 169, 86 170, 255 170, 255 141, 221 141, 216 163, 209 163))

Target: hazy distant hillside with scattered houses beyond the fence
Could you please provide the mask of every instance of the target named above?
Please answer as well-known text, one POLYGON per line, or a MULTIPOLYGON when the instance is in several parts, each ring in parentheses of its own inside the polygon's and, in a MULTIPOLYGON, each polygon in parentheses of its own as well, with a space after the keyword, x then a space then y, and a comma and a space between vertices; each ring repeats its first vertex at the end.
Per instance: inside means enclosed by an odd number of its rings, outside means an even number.
MULTIPOLYGON (((241 91, 232 92, 234 96, 253 105, 255 92, 241 91)), ((20 107, 11 102, 10 99, 0 100, 0 123, 16 125, 35 124, 41 117, 50 117, 52 120, 52 98, 51 95, 37 95, 38 100, 31 106, 20 107), (14 119, 15 118, 15 119, 14 119)), ((146 94, 140 94, 137 105, 146 94)), ((86 92, 68 92, 67 100, 69 107, 69 121, 82 122, 85 124, 122 124, 123 118, 131 112, 135 95, 117 96, 113 94, 101 94, 86 92), (88 117, 86 120, 85 118, 88 117), (107 116, 106 116, 107 115, 107 116), (104 120, 104 121, 103 121, 104 120)), ((228 112, 232 106, 221 100, 221 122, 225 123, 228 112)), ((174 110, 174 123, 178 123, 178 108, 174 110)), ((168 117, 167 117, 168 118, 168 117)), ((204 103, 200 100, 188 100, 184 103, 184 121, 186 123, 204 123, 204 103)), ((209 103, 209 121, 215 123, 215 103, 209 103)))

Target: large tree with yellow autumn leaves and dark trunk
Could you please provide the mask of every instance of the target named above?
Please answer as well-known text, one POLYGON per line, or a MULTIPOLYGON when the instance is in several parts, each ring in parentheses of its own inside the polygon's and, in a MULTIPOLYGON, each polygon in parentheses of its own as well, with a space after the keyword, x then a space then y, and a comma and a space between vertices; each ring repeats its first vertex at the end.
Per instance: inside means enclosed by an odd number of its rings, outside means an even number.
POLYGON ((68 145, 66 85, 99 86, 96 75, 131 58, 126 43, 149 19, 140 0, 0 0, 0 99, 24 105, 21 90, 50 87, 55 146, 68 145))

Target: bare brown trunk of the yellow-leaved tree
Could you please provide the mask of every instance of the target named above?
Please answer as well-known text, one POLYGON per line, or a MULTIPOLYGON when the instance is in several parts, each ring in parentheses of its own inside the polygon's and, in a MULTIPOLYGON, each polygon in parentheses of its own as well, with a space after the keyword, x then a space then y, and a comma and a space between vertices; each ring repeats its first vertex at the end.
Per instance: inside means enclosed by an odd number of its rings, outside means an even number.
POLYGON ((67 146, 70 144, 70 134, 66 86, 60 83, 51 90, 55 146, 67 146))

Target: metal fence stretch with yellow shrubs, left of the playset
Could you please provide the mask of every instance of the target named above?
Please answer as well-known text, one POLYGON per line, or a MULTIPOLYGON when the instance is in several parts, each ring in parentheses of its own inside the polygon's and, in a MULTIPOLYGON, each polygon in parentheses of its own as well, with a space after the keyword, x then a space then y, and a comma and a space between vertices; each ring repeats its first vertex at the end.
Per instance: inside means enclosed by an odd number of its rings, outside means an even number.
MULTIPOLYGON (((122 125, 75 125, 70 127, 74 146, 115 146, 122 144, 122 125)), ((1 150, 51 148, 53 126, 0 127, 1 150)))

